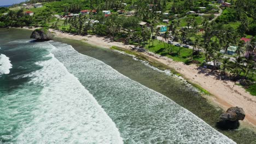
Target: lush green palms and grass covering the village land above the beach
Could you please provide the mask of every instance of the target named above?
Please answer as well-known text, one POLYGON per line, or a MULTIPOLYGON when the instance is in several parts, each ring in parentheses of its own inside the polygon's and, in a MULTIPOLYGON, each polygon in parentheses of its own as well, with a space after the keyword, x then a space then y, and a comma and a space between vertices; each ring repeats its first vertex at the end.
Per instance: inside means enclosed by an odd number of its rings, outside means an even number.
MULTIPOLYGON (((245 53, 255 51, 256 39, 247 43, 241 37, 254 37, 256 34, 256 4, 253 0, 232 2, 231 7, 223 7, 223 13, 215 21, 211 21, 219 13, 216 5, 205 0, 31 0, 27 3, 44 4, 43 8, 31 8, 33 16, 26 15, 27 9, 19 9, 14 5, 11 9, 1 8, 0 27, 50 27, 67 33, 97 34, 112 37, 115 41, 145 47, 149 51, 167 56, 174 61, 186 64, 207 65, 213 62, 213 70, 232 80, 248 79, 255 81, 255 63, 253 55, 245 57, 245 53), (122 4, 122 3, 126 3, 122 4), (209 5, 210 4, 210 5, 209 5), (205 7, 203 9, 199 7, 205 7), (89 15, 65 17, 80 10, 96 10, 89 15), (105 16, 102 10, 110 10, 112 15, 105 16), (136 11, 135 16, 127 17, 118 14, 117 10, 136 11), (188 11, 199 14, 187 14, 188 11), (161 13, 159 13, 161 11, 161 13), (168 13, 168 15, 164 15, 168 13), (177 14, 177 15, 176 15, 177 14), (57 15, 57 16, 56 16, 57 15), (164 23, 162 20, 170 20, 164 23), (95 22, 97 20, 97 22, 95 22), (139 25, 140 21, 147 25, 139 25), (168 31, 160 33, 157 25, 165 25, 168 31), (160 39, 155 39, 161 35, 160 39), (172 38, 170 38, 170 35, 172 38), (173 46, 165 43, 172 39, 179 44, 192 43, 193 49, 173 46), (233 57, 227 56, 229 46, 238 46, 233 57), (223 50, 224 53, 220 53, 223 50)), ((18 7, 17 7, 18 6, 18 7)), ((253 91, 255 85, 246 87, 253 91)))

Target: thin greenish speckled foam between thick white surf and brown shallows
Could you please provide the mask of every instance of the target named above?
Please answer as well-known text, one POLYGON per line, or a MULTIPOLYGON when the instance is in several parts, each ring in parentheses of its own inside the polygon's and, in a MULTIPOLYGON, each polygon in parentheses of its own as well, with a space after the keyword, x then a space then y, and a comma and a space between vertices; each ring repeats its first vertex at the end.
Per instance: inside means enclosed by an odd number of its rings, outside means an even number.
POLYGON ((125 143, 235 143, 174 101, 109 65, 69 45, 53 45, 55 57, 94 93, 125 143))

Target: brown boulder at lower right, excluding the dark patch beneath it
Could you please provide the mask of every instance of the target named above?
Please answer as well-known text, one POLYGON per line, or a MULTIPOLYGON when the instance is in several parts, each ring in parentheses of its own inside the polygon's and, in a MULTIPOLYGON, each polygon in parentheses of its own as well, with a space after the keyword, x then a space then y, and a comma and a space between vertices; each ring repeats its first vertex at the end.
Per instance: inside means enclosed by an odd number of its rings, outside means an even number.
POLYGON ((222 115, 220 115, 220 119, 222 119, 222 121, 243 121, 243 119, 245 119, 245 111, 243 111, 243 109, 241 107, 230 107, 226 112, 222 113, 222 115))

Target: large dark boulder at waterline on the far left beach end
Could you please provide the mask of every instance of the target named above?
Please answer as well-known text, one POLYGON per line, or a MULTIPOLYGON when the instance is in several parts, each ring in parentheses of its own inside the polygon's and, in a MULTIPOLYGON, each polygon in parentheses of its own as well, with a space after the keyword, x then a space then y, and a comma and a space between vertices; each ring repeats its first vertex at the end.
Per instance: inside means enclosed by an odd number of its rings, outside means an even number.
POLYGON ((30 38, 37 39, 38 41, 47 41, 53 39, 53 34, 46 28, 40 28, 34 30, 30 38))

